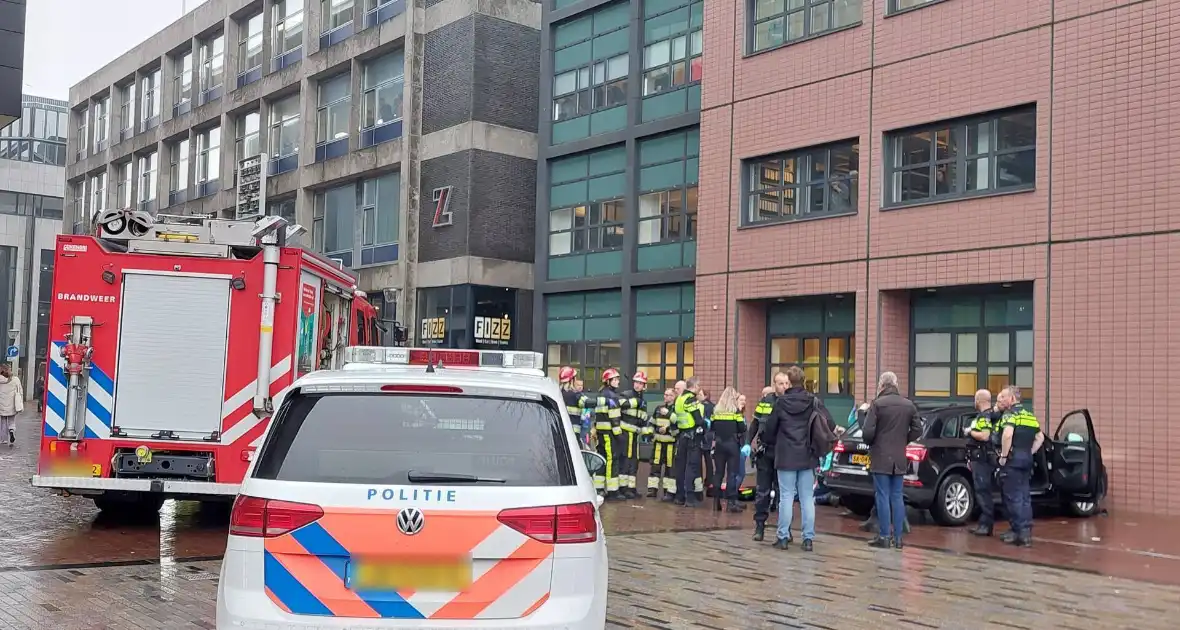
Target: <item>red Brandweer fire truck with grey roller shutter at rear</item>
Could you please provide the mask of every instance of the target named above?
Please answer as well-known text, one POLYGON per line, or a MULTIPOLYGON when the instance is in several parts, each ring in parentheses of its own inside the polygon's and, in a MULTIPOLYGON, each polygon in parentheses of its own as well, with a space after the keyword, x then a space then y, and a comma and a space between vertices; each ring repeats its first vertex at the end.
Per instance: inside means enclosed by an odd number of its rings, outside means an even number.
POLYGON ((37 487, 99 508, 232 498, 273 396, 378 342, 356 278, 258 222, 98 217, 57 239, 37 487))

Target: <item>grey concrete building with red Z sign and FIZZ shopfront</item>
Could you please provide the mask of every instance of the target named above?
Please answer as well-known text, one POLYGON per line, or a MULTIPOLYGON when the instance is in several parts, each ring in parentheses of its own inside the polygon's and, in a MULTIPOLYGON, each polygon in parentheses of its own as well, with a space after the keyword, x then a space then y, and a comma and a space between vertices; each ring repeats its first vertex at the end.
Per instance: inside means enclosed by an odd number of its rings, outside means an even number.
POLYGON ((412 341, 527 347, 539 26, 533 0, 209 0, 71 90, 70 224, 235 216, 263 155, 266 211, 412 341))

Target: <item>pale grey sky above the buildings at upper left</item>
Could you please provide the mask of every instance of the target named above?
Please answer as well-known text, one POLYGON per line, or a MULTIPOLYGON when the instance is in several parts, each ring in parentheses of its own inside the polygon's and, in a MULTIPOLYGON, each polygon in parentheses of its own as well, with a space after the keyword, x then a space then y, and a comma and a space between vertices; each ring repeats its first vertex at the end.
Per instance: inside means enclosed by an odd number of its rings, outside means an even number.
POLYGON ((25 93, 70 98, 70 86, 204 1, 28 0, 25 93))

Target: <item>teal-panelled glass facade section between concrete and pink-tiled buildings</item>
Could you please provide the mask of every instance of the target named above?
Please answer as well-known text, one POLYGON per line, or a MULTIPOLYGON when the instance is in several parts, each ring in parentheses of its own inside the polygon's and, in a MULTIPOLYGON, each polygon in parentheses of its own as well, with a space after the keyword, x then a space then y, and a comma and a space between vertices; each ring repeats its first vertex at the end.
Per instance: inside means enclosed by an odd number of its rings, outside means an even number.
POLYGON ((588 389, 610 367, 654 398, 693 374, 702 8, 544 6, 533 344, 588 389))

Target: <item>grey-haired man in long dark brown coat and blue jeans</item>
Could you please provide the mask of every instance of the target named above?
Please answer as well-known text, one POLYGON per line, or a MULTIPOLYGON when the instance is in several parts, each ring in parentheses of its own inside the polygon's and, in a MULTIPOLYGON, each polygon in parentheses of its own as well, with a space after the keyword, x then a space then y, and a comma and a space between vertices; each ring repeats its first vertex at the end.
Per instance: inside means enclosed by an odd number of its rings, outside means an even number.
POLYGON ((868 472, 877 494, 877 536, 871 546, 902 549, 905 530, 903 484, 910 470, 905 447, 922 435, 918 408, 898 393, 897 374, 886 372, 877 381, 877 399, 865 415, 863 438, 870 446, 868 472), (891 529, 892 526, 892 529, 891 529))

